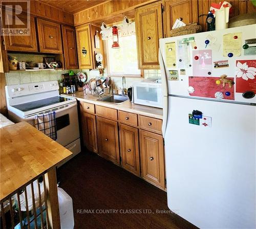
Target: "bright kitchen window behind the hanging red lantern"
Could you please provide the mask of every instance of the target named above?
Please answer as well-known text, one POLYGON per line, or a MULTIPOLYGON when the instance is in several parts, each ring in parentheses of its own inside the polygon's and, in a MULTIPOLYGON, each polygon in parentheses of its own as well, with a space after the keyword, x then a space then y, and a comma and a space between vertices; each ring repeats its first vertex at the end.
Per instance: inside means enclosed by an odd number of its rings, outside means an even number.
POLYGON ((140 77, 136 36, 119 37, 119 49, 112 49, 112 39, 104 41, 106 70, 110 76, 140 77))

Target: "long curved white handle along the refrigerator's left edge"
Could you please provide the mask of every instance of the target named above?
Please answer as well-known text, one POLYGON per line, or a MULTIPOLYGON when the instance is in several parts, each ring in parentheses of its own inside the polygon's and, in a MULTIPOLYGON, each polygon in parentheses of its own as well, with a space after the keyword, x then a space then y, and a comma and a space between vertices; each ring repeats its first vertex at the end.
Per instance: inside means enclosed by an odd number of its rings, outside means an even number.
POLYGON ((161 50, 159 48, 158 59, 161 69, 161 78, 162 78, 162 88, 163 88, 163 123, 162 123, 162 134, 163 138, 165 135, 166 125, 167 125, 167 117, 168 117, 168 80, 167 74, 165 72, 165 66, 163 62, 163 56, 161 50))

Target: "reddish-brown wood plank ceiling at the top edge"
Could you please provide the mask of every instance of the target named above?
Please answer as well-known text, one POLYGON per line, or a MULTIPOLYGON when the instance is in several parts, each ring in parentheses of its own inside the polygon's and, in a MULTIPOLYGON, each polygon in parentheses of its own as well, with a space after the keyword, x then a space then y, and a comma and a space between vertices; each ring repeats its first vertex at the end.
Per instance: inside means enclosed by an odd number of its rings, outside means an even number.
POLYGON ((96 6, 98 4, 108 2, 105 0, 69 0, 69 1, 62 1, 62 0, 38 0, 40 2, 46 3, 47 5, 53 6, 60 10, 69 12, 69 13, 77 13, 81 10, 88 9, 90 7, 96 6))

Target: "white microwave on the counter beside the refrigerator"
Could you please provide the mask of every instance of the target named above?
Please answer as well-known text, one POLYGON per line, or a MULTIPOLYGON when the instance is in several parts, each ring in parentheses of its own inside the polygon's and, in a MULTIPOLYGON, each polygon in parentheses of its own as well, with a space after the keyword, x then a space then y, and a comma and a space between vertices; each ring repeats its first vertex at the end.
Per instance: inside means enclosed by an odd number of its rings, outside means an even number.
POLYGON ((163 108, 162 84, 139 82, 133 85, 134 103, 163 108))

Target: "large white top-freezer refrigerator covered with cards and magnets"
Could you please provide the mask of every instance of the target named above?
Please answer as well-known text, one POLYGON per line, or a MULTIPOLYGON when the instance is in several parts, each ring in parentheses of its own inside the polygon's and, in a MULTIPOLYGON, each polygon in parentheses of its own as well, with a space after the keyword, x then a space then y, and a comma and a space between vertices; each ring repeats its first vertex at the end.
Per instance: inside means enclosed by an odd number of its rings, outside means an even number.
POLYGON ((168 208, 256 228, 256 25, 160 39, 168 208))

